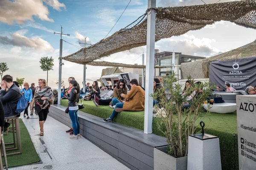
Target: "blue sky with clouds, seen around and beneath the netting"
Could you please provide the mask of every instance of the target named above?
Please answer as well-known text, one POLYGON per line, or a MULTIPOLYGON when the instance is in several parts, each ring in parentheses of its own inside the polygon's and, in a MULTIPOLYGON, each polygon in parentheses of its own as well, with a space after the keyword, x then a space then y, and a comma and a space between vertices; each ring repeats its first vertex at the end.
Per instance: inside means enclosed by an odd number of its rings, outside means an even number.
MULTIPOLYGON (((130 0, 0 0, 0 58, 7 62, 14 79, 25 78, 26 82, 37 82, 46 78, 46 72, 40 69, 39 59, 44 56, 54 58, 54 70, 49 71, 49 85, 57 88, 59 35, 62 25, 63 40, 79 45, 87 37, 87 43, 102 40, 116 23, 130 0)), ((215 3, 216 0, 204 0, 215 3)), ((227 2, 231 0, 221 0, 227 2)), ((201 0, 157 0, 157 6, 187 6, 203 4, 201 0)), ((132 23, 147 9, 147 0, 131 0, 128 8, 113 28, 115 31, 132 23)), ((197 31, 189 31, 179 37, 160 40, 156 48, 160 51, 177 51, 183 54, 210 57, 221 52, 238 48, 254 41, 256 31, 237 26, 229 22, 218 22, 197 31)), ((63 42, 63 56, 78 51, 63 42)), ((137 59, 145 46, 113 54, 104 61, 141 64, 137 59), (137 59, 135 62, 135 59, 137 59)), ((67 85, 68 77, 82 81, 83 66, 64 61, 62 78, 67 85)), ((87 66, 87 81, 99 79, 102 68, 87 66)))

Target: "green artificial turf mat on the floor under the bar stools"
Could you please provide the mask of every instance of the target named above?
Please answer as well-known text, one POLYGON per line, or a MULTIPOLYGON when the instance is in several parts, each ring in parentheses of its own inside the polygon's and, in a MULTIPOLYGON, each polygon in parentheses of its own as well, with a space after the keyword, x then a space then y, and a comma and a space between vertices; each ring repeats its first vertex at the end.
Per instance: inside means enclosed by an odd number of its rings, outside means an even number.
MULTIPOLYGON (((26 129, 26 126, 24 125, 21 119, 20 119, 20 137, 21 137, 22 153, 18 155, 7 156, 8 167, 32 164, 40 161, 39 156, 35 151, 34 144, 32 143, 31 138, 29 136, 29 132, 26 129)), ((13 142, 12 132, 8 132, 8 135, 4 135, 3 139, 5 143, 12 143, 13 142)), ((10 147, 10 146, 12 145, 8 145, 6 147, 10 147)), ((15 152, 17 152, 17 150, 7 151, 6 153, 15 153, 15 152)), ((2 158, 2 161, 4 164, 3 158, 2 158)))

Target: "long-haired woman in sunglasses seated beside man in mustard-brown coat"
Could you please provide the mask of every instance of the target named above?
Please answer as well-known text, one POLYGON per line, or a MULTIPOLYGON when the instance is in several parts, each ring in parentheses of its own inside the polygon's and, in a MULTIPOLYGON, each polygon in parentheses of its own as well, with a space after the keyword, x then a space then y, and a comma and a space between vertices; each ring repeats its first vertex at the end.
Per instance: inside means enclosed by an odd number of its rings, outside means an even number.
POLYGON ((112 99, 99 99, 98 101, 92 99, 93 103, 96 106, 109 105, 111 108, 114 108, 116 103, 120 103, 120 102, 124 103, 125 99, 121 96, 121 94, 127 94, 127 88, 125 86, 125 80, 124 79, 119 79, 119 81, 117 82, 117 85, 114 88, 114 90, 109 91, 108 93, 113 93, 113 98, 112 99))

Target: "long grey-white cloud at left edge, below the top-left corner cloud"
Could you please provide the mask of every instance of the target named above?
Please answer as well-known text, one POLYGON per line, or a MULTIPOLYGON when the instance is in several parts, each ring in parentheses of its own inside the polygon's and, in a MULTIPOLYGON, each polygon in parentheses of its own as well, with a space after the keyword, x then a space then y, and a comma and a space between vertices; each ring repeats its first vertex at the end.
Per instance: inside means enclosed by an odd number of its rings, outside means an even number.
POLYGON ((7 36, 0 36, 0 43, 3 45, 34 48, 36 50, 53 51, 52 45, 49 42, 41 39, 40 37, 28 38, 19 33, 14 33, 10 35, 11 38, 7 36))

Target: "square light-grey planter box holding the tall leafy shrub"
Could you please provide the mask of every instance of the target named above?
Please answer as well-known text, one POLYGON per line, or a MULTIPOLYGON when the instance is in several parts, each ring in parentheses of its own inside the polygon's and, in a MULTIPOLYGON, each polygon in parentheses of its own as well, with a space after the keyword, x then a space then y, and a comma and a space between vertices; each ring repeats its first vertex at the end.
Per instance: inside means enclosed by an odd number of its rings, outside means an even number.
POLYGON ((188 157, 175 158, 167 154, 167 148, 154 148, 154 170, 186 170, 188 157))

